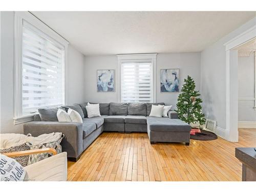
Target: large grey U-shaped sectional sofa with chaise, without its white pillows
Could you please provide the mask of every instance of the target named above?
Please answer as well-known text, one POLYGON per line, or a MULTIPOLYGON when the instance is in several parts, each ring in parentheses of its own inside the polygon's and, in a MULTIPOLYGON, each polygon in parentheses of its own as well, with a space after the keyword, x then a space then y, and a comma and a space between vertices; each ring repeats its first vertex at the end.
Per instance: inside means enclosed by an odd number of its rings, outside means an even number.
POLYGON ((24 124, 24 134, 38 136, 45 133, 62 132, 65 138, 61 142, 62 151, 68 158, 77 161, 81 153, 103 132, 120 133, 147 132, 151 143, 154 142, 185 142, 189 145, 189 124, 178 119, 175 111, 169 111, 168 117, 150 117, 154 105, 164 103, 100 103, 100 117, 88 118, 87 103, 61 106, 76 110, 83 123, 58 122, 57 108, 40 109, 34 121, 24 124))

